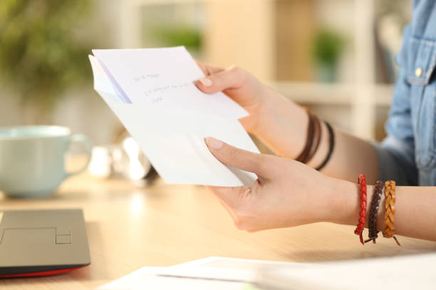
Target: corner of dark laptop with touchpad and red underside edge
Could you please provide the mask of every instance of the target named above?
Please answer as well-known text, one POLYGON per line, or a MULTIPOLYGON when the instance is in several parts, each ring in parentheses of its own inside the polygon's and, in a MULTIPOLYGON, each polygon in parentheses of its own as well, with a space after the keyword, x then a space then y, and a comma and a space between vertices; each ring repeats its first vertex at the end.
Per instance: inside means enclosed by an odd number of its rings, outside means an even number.
POLYGON ((0 278, 61 274, 88 264, 82 210, 0 210, 0 278))

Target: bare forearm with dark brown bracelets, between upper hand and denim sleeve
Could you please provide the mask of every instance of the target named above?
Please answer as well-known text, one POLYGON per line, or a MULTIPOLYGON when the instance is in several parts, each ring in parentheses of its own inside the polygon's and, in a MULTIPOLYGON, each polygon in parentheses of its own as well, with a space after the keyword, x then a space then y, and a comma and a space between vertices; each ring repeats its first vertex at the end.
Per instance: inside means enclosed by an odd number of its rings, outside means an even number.
MULTIPOLYGON (((253 133, 279 156, 295 159, 306 143, 308 116, 300 106, 286 100, 274 91, 259 115, 253 133)), ((328 130, 321 124, 321 143, 308 166, 319 166, 329 149, 328 130)), ((321 171, 328 176, 355 182, 359 173, 365 173, 368 183, 378 178, 378 156, 373 146, 338 129, 335 148, 330 161, 321 171)))

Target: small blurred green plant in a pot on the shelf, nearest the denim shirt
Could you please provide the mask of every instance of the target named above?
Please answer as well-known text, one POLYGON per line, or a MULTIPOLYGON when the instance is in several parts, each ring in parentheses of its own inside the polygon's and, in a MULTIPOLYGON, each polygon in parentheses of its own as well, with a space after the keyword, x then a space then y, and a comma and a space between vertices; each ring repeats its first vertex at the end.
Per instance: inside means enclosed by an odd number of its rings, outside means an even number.
POLYGON ((345 41, 339 33, 323 29, 313 40, 313 58, 320 65, 334 67, 344 46, 345 41))

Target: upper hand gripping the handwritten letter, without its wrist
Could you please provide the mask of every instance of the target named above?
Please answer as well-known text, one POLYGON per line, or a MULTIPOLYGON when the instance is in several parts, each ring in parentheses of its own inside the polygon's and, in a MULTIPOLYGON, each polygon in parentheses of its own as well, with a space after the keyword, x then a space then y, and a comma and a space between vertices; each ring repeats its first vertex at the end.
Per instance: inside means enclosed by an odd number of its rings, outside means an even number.
POLYGON ((249 116, 239 120, 246 131, 256 131, 262 119, 261 115, 265 114, 265 107, 268 106, 274 92, 259 82, 256 77, 237 66, 232 65, 223 69, 198 61, 197 64, 206 75, 195 82, 199 90, 207 94, 224 92, 249 112, 249 116))

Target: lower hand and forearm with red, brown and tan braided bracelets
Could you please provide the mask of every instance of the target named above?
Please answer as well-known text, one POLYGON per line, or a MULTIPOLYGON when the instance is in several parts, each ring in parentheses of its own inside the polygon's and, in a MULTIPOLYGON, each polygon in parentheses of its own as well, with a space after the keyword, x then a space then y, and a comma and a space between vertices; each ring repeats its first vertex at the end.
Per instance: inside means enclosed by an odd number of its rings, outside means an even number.
MULTIPOLYGON (((356 225, 360 210, 358 184, 325 176, 297 161, 237 149, 211 137, 206 143, 222 163, 258 176, 251 188, 207 187, 229 211, 240 230, 256 232, 312 222, 356 225)), ((368 216, 374 187, 368 185, 367 192, 368 216)), ((396 235, 436 241, 435 193, 432 186, 396 187, 396 235)), ((380 205, 384 203, 382 197, 380 205)), ((377 218, 379 231, 383 230, 384 223, 382 208, 380 206, 377 218)))

